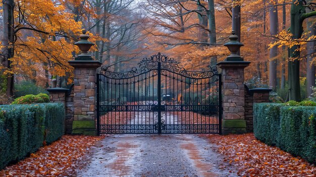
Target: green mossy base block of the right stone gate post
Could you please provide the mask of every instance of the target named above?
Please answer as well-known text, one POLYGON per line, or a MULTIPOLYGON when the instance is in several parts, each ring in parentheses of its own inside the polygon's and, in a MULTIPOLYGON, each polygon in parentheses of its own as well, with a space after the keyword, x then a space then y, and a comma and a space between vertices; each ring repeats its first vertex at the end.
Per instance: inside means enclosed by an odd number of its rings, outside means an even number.
POLYGON ((245 134, 246 120, 223 120, 223 135, 245 134))

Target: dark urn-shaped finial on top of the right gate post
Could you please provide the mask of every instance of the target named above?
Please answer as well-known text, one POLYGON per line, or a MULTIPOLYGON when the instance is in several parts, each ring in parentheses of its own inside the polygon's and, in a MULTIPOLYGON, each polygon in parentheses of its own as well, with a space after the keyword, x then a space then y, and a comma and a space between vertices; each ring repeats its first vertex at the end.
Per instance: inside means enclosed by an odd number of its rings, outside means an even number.
POLYGON ((229 36, 230 41, 225 43, 224 46, 227 46, 231 54, 227 56, 226 61, 243 61, 243 58, 237 53, 240 47, 244 46, 241 42, 238 41, 238 36, 235 31, 232 31, 232 35, 229 36))

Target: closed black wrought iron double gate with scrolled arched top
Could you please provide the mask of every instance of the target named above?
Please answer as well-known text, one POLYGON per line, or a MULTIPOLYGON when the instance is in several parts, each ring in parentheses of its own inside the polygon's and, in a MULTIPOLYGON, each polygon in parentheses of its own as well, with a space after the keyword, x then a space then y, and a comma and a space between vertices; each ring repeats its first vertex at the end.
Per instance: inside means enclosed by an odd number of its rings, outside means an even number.
POLYGON ((217 67, 187 71, 162 54, 139 68, 97 74, 100 134, 221 134, 222 77, 217 67))

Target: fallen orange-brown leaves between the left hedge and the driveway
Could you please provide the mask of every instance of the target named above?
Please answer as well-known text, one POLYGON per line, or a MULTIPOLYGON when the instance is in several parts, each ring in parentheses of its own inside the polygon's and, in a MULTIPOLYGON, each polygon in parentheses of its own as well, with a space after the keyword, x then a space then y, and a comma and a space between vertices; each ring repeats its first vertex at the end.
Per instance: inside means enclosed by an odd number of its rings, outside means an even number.
POLYGON ((0 176, 75 176, 85 155, 102 137, 65 135, 29 158, 7 166, 0 176))

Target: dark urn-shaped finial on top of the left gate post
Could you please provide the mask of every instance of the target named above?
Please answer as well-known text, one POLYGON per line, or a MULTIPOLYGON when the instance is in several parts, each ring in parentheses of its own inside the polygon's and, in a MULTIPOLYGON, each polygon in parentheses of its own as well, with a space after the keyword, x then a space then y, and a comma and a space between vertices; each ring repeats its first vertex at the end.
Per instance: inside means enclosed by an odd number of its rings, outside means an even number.
POLYGON ((91 46, 94 45, 94 43, 90 42, 89 35, 86 34, 86 30, 82 30, 82 34, 79 36, 80 40, 75 43, 81 50, 81 54, 78 55, 78 57, 75 58, 75 60, 92 60, 92 57, 90 54, 88 54, 88 51, 90 50, 91 46))

